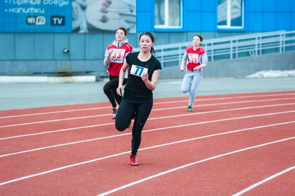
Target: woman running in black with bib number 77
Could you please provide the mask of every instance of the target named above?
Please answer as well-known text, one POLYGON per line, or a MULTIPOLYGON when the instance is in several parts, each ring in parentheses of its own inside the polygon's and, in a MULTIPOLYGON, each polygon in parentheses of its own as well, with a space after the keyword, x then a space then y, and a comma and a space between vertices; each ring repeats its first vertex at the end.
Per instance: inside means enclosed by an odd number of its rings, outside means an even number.
POLYGON ((152 55, 155 53, 153 45, 154 36, 145 32, 139 37, 140 52, 130 53, 120 70, 117 93, 120 96, 123 89, 124 75, 129 67, 129 75, 124 88, 124 96, 116 117, 115 126, 118 131, 128 128, 135 113, 131 140, 131 165, 138 165, 136 158, 141 143, 141 133, 148 120, 152 105, 152 91, 157 86, 160 62, 152 55))

